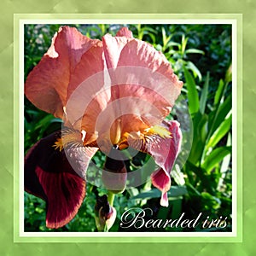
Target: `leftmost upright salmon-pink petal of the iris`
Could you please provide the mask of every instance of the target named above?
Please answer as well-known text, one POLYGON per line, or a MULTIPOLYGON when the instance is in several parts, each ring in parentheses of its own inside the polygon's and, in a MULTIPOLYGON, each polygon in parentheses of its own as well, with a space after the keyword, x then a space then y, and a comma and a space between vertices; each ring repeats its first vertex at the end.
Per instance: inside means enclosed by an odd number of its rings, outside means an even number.
POLYGON ((47 53, 29 73, 26 97, 38 108, 62 118, 70 75, 84 52, 97 42, 83 36, 76 28, 61 27, 47 53))

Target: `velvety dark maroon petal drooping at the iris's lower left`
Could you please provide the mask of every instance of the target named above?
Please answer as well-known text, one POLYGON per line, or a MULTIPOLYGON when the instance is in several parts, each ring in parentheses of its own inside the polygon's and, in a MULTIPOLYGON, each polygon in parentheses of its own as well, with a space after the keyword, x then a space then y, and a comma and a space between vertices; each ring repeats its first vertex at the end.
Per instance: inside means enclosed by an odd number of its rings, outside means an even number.
POLYGON ((47 202, 46 226, 51 229, 73 219, 85 196, 84 178, 73 171, 64 150, 52 147, 60 134, 41 139, 25 158, 25 190, 47 202))

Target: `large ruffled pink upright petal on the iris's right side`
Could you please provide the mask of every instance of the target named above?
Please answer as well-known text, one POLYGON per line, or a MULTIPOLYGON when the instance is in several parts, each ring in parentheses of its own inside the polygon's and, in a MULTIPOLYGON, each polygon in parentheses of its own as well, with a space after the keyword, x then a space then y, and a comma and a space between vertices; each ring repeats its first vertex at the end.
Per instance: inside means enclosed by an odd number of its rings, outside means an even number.
POLYGON ((105 110, 107 123, 102 124, 108 127, 115 119, 121 119, 122 133, 160 124, 183 86, 165 55, 152 45, 131 38, 127 28, 116 37, 105 35, 102 43, 112 84, 109 103, 113 103, 105 110), (130 116, 134 121, 128 121, 130 116))

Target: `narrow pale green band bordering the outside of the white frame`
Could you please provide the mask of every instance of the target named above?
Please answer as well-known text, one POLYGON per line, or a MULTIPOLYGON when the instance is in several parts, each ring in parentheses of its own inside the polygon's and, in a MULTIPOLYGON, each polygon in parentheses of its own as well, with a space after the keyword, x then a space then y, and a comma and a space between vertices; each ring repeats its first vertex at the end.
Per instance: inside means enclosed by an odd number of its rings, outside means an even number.
MULTIPOLYGON (((129 236, 129 237, 120 237, 119 234, 112 236, 91 236, 90 234, 85 235, 86 237, 78 237, 76 234, 68 233, 67 236, 62 237, 58 236, 58 233, 54 233, 54 237, 44 237, 44 236, 52 236, 53 233, 40 233, 39 237, 24 237, 19 235, 19 153, 18 148, 22 147, 19 144, 19 138, 17 135, 19 134, 20 129, 22 129, 22 119, 19 121, 19 111, 20 111, 20 71, 22 74, 22 70, 20 70, 20 59, 23 60, 22 51, 20 51, 20 20, 25 23, 68 23, 67 20, 70 19, 81 19, 84 20, 84 23, 92 22, 92 23, 112 23, 119 22, 117 20, 121 20, 120 23, 138 23, 138 20, 143 20, 143 22, 150 23, 167 23, 170 20, 174 20, 176 23, 181 22, 181 20, 185 20, 185 22, 201 22, 200 20, 210 20, 210 22, 219 22, 219 20, 226 20, 230 22, 230 20, 236 20, 237 26, 237 34, 236 32, 233 34, 233 40, 236 40, 237 36, 237 52, 235 52, 235 56, 237 56, 237 78, 241 78, 241 15, 15 15, 15 241, 19 242, 237 242, 241 241, 241 172, 238 172, 237 176, 237 234, 236 236, 232 235, 231 237, 222 236, 213 236, 215 234, 202 234, 197 233, 193 234, 194 237, 191 237, 190 234, 187 236, 186 234, 178 234, 176 237, 160 237, 156 236, 154 233, 150 237, 138 237, 138 236, 129 236), (129 20, 129 22, 125 22, 122 20, 129 20), (24 21, 25 20, 25 21, 24 21), (61 22, 60 20, 65 20, 61 22), (192 20, 192 21, 191 21, 192 20), (19 59, 21 55, 21 58, 19 59), (41 236, 42 234, 42 236, 41 236), (210 235, 210 236, 208 236, 210 235), (200 236, 200 237, 195 237, 200 236)), ((73 22, 73 21, 70 21, 73 22)), ((222 21, 221 21, 222 22, 222 21)), ((79 22, 76 22, 79 23, 79 22)), ((22 32, 22 31, 21 31, 22 32)), ((236 68, 236 67, 235 67, 236 68)), ((236 73, 236 72, 235 72, 236 73)), ((23 79, 21 77, 21 79, 23 79)), ((23 81, 23 80, 21 80, 23 81)), ((237 79, 237 95, 241 95, 241 80, 237 79)), ((22 97, 22 96, 21 96, 22 97)), ((235 99, 233 102, 233 108, 237 109, 237 120, 241 120, 241 101, 239 98, 235 99), (235 104, 237 102, 237 104, 235 104)), ((21 117, 22 118, 22 117, 21 117)), ((236 124, 235 124, 236 125, 236 124)), ((237 143, 240 144, 241 141, 241 123, 238 122, 237 125, 237 143)), ((234 127, 235 128, 235 127, 234 127)), ((233 129, 234 129, 233 128, 233 129)), ((22 151, 21 151, 22 152, 22 151)), ((237 157, 237 170, 241 170, 241 150, 238 152, 237 157)), ((20 168, 21 169, 21 168, 20 168)), ((236 187, 236 186, 234 186, 236 187)), ((235 204, 236 207, 236 204, 235 204)), ((96 234, 99 235, 99 234, 96 234)), ((104 234, 106 235, 106 234, 104 234)), ((107 234, 108 235, 108 234, 107 234)), ((112 234, 113 235, 113 234, 112 234)), ((38 236, 38 233, 35 233, 34 236, 38 236)))

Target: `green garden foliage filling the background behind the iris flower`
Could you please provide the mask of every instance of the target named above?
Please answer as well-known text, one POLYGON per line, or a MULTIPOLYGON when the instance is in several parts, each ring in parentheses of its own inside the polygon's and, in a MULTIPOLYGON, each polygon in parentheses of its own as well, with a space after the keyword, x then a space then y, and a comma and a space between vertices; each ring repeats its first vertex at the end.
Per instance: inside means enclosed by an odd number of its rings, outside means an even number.
MULTIPOLYGON (((61 25, 25 26, 25 79, 49 48, 51 38, 61 25)), ((123 25, 74 25, 90 38, 115 34, 123 25)), ((210 219, 229 218, 231 230, 231 26, 230 25, 125 25, 135 38, 153 44, 172 63, 174 72, 183 80, 182 95, 187 100, 194 129, 193 143, 184 166, 172 171, 172 189, 169 207, 160 207, 160 192, 151 189, 148 182, 138 188, 126 189, 116 196, 114 207, 118 218, 110 231, 122 231, 119 219, 131 207, 150 207, 154 218, 178 218, 185 212, 187 218, 196 218, 200 212, 210 219)), ((170 118, 176 119, 178 108, 170 118)), ((25 150, 41 137, 61 129, 61 120, 35 108, 25 99, 25 150)), ((104 156, 93 159, 102 166, 104 156)), ((130 171, 143 166, 144 154, 127 163, 130 171)), ((95 192, 104 189, 87 184, 87 195, 77 216, 65 231, 96 231, 94 220, 95 192)), ((44 201, 25 193, 26 231, 49 231, 45 227, 44 201)), ((218 228, 202 231, 216 231, 218 228)), ((53 230, 55 231, 55 230, 53 230)), ((127 231, 127 230, 125 230, 127 231)), ((136 230, 131 230, 136 231, 136 230)), ((140 230, 143 231, 143 230, 140 230)), ((165 230, 149 230, 165 231, 165 230)), ((201 231, 200 229, 168 229, 166 231, 201 231)))

